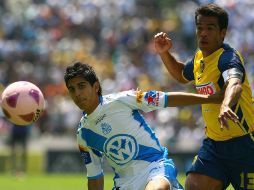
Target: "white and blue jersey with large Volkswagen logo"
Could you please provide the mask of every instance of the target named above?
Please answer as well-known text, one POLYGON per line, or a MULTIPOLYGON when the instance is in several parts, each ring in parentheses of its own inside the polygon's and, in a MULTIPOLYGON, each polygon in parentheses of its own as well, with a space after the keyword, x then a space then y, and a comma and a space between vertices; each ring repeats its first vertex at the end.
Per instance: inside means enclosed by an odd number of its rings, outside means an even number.
POLYGON ((167 105, 168 96, 160 91, 130 90, 100 97, 94 112, 83 114, 77 132, 88 179, 103 175, 102 157, 115 171, 115 179, 167 158, 167 149, 140 113, 167 105))

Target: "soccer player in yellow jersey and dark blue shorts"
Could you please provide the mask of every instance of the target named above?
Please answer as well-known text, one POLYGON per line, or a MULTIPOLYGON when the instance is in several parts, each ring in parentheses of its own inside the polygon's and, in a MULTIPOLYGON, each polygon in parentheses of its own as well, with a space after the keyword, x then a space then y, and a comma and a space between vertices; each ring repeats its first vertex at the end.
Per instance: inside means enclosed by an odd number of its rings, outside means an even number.
POLYGON ((254 189, 254 107, 241 54, 224 43, 227 12, 216 4, 195 12, 198 50, 186 64, 170 53, 164 32, 154 36, 155 49, 179 82, 194 81, 200 94, 224 92, 220 105, 202 105, 206 124, 202 147, 187 171, 186 190, 254 189), (234 113, 238 119, 234 118, 234 113))

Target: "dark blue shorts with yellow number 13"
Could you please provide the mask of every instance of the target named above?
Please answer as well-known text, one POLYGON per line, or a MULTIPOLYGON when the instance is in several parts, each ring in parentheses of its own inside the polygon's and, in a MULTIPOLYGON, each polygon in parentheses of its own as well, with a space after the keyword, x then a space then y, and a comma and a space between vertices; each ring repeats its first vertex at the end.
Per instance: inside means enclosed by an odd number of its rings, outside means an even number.
POLYGON ((254 189, 254 132, 227 141, 204 139, 187 175, 192 172, 222 181, 225 189, 230 183, 254 189))

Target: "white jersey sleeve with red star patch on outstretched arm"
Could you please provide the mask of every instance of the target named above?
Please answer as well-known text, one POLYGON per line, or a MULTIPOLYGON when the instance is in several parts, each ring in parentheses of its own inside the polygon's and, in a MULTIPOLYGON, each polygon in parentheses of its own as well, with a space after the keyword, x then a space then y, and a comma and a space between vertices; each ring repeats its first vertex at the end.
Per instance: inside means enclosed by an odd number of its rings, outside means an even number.
POLYGON ((147 92, 139 90, 121 92, 119 93, 117 100, 132 109, 139 109, 144 112, 161 109, 168 105, 167 93, 155 90, 147 92))

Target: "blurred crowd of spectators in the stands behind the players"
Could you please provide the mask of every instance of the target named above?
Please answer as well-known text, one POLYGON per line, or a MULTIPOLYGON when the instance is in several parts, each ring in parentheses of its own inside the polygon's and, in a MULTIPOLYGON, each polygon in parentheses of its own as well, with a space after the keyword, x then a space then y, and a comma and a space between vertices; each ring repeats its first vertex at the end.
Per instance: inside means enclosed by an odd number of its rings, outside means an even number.
MULTIPOLYGON (((196 51, 194 11, 215 2, 229 12, 226 42, 243 53, 254 89, 252 0, 2 0, 0 83, 28 80, 42 90, 46 109, 31 139, 75 139, 81 111, 68 97, 63 74, 74 61, 95 68, 103 94, 129 90, 194 92, 170 77, 154 51, 153 36, 167 32, 182 61, 196 51)), ((168 108, 145 115, 170 150, 193 151, 204 137, 200 106, 168 108)), ((0 119, 0 145, 9 124, 0 119)))

